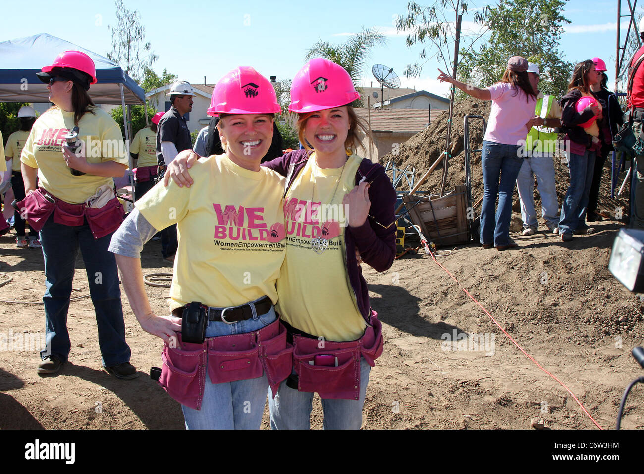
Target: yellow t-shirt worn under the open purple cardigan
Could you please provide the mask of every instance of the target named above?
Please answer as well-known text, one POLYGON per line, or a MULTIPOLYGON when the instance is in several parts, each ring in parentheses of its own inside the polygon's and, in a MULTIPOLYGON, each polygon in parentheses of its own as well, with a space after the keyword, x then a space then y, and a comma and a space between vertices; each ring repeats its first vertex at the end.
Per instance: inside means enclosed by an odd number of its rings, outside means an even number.
POLYGON ((278 280, 278 312, 295 328, 329 341, 354 341, 366 327, 346 271, 344 226, 348 222, 342 206, 345 195, 355 188, 360 162, 352 155, 344 170, 318 168, 313 153, 284 201, 287 257, 278 280), (328 241, 324 252, 312 248, 316 237, 328 241))

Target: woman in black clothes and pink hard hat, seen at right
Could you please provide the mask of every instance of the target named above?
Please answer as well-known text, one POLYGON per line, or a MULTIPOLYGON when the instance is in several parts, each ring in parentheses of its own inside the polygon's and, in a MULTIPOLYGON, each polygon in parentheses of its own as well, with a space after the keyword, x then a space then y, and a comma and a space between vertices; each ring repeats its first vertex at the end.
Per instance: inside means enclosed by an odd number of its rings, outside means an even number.
POLYGON ((601 148, 597 152, 595 166, 592 172, 591 190, 588 196, 588 209, 586 212, 586 221, 603 221, 601 214, 598 212, 597 204, 600 195, 601 175, 603 174, 604 164, 608 154, 612 152, 612 138, 618 131, 618 128, 624 123, 621 112, 620 102, 617 96, 608 90, 608 76, 606 75, 606 64, 598 57, 592 58, 595 64, 595 70, 600 72, 600 84, 591 86, 591 90, 601 105, 601 148))

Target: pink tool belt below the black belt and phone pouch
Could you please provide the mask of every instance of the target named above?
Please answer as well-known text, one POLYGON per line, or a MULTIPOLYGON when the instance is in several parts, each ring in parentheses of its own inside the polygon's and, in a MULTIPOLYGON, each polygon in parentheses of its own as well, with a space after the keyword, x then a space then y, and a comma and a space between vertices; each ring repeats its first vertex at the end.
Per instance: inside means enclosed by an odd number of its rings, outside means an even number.
POLYGON ((158 383, 173 399, 200 410, 205 377, 213 384, 256 379, 266 374, 277 393, 279 383, 292 370, 293 346, 279 318, 257 331, 206 337, 201 344, 183 342, 176 333, 176 348, 163 348, 158 383))

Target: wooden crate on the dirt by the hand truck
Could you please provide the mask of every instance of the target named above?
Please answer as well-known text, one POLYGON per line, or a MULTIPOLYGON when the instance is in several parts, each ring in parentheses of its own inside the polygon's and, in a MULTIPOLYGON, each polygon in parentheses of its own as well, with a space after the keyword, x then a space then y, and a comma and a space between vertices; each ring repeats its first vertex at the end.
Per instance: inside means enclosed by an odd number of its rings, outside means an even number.
POLYGON ((412 222, 436 246, 465 244, 469 241, 466 219, 467 195, 465 186, 443 197, 403 196, 412 222))

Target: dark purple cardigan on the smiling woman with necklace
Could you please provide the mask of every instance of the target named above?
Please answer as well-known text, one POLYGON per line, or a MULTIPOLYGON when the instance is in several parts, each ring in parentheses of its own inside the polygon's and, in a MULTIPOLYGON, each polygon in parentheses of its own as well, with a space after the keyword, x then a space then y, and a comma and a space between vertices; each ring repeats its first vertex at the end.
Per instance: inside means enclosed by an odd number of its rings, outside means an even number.
MULTIPOLYGON (((285 176, 286 190, 289 190, 294 179, 307 163, 308 156, 307 150, 295 150, 272 161, 266 161, 261 166, 267 166, 267 168, 285 176)), ((392 224, 395 221, 393 211, 396 192, 384 172, 383 165, 372 163, 366 158, 363 159, 355 173, 355 184, 357 185, 364 176, 366 176, 366 182, 371 183, 369 187, 369 201, 371 202, 369 217, 359 227, 346 228, 345 264, 349 281, 357 299, 358 309, 365 321, 368 322, 371 314, 369 292, 362 275, 362 269, 355 260, 354 247, 357 246, 363 261, 377 272, 384 272, 391 268, 396 253, 396 226, 392 224), (384 226, 389 227, 385 228, 384 226)))

